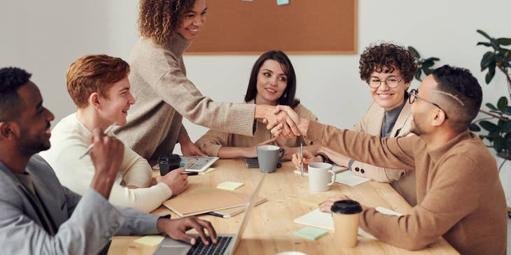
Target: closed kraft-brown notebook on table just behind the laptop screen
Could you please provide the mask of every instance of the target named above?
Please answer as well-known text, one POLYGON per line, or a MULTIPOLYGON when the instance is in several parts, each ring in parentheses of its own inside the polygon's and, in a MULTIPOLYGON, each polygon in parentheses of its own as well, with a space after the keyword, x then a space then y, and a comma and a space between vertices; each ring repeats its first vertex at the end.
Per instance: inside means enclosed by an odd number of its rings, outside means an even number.
POLYGON ((215 210, 245 206, 248 199, 243 194, 237 194, 223 189, 201 189, 171 198, 163 205, 179 215, 187 217, 215 210), (193 201, 193 203, 190 203, 193 201))

